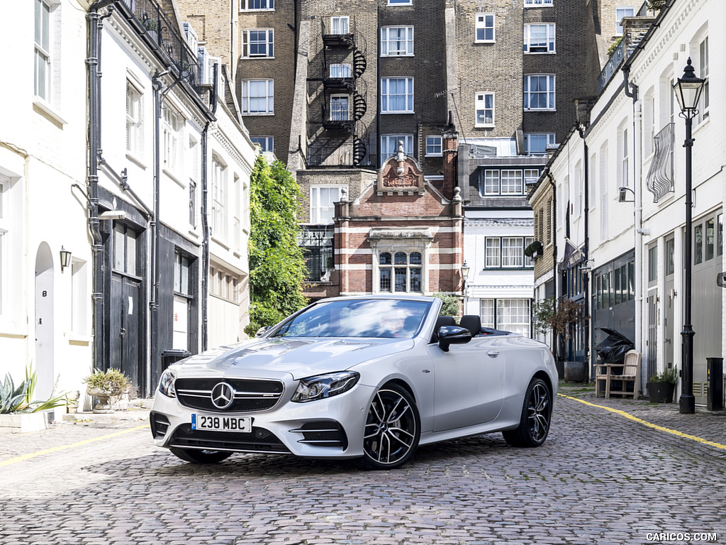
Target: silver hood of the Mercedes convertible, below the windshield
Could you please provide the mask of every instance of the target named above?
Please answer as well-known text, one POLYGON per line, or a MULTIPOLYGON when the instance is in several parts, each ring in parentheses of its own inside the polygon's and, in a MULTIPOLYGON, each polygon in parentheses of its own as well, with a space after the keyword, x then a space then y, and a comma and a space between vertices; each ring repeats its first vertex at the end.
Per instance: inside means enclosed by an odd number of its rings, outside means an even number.
POLYGON ((177 376, 289 373, 295 379, 343 371, 413 347, 412 339, 253 339, 190 356, 174 364, 177 376))

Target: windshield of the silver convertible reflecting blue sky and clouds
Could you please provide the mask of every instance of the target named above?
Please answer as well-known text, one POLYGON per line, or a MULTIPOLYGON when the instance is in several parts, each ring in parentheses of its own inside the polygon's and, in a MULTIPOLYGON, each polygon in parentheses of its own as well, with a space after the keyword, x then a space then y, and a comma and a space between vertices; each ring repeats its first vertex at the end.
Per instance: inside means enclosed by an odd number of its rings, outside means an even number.
POLYGON ((283 323, 274 336, 411 339, 430 305, 403 299, 322 302, 283 323))

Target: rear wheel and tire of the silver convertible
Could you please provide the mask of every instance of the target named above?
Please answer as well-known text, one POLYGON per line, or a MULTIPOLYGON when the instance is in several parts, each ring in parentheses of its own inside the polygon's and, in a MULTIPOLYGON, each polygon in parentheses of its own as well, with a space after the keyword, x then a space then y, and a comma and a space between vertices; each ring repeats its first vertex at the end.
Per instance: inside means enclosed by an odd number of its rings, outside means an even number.
POLYGON ((539 447, 550 433, 552 394, 542 379, 532 379, 524 395, 519 427, 502 432, 507 443, 515 447, 539 447))

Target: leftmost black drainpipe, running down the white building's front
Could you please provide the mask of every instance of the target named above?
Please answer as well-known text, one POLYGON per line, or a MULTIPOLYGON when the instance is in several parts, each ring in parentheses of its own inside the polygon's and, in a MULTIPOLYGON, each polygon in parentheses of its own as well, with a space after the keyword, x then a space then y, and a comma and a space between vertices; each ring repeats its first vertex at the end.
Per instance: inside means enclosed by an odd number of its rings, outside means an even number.
MULTIPOLYGON (((86 179, 87 194, 89 195, 88 226, 91 234, 91 262, 92 287, 91 304, 93 315, 93 368, 104 369, 104 325, 103 325, 103 280, 104 280, 104 251, 101 236, 100 220, 98 217, 98 151, 100 134, 100 92, 99 92, 99 52, 101 16, 99 10, 111 4, 111 0, 96 2, 89 9, 86 16, 89 21, 89 55, 86 57, 89 88, 88 113, 88 177, 86 179)), ((110 12, 104 17, 108 17, 110 12)))

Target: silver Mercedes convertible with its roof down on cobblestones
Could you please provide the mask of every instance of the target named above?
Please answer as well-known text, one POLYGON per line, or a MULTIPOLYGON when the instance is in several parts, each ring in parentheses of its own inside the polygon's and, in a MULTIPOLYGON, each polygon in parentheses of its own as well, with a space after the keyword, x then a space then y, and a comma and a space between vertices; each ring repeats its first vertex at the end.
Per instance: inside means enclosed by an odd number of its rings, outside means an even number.
POLYGON ((367 469, 468 435, 542 445, 557 393, 547 346, 440 310, 424 296, 323 299, 255 339, 181 360, 160 379, 154 442, 195 463, 285 453, 367 469))

